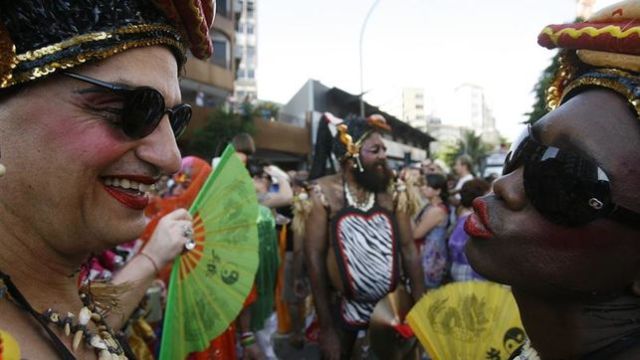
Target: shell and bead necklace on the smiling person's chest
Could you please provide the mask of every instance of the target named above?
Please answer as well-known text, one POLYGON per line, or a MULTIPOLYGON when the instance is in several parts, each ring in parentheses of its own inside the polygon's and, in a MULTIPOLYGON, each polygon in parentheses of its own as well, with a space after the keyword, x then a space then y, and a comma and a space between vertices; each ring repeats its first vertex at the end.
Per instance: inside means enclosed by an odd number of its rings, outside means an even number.
POLYGON ((62 359, 75 359, 69 350, 62 344, 60 338, 49 328, 49 324, 54 324, 60 329, 64 329, 66 336, 73 334, 72 348, 76 351, 81 343, 93 349, 98 355, 99 360, 107 359, 129 359, 133 358, 125 348, 117 340, 122 334, 116 334, 114 330, 106 323, 106 311, 99 308, 93 301, 88 286, 80 289, 80 299, 84 305, 78 315, 68 312, 61 315, 55 310, 49 308, 43 313, 38 313, 29 304, 27 299, 22 295, 18 288, 13 284, 11 278, 0 271, 0 299, 8 295, 7 298, 21 309, 27 311, 33 316, 43 329, 49 335, 49 338, 62 359), (88 325, 91 321, 96 330, 89 330, 88 325), (83 341, 84 340, 84 341, 83 341), (129 355, 129 357, 127 356, 129 355))

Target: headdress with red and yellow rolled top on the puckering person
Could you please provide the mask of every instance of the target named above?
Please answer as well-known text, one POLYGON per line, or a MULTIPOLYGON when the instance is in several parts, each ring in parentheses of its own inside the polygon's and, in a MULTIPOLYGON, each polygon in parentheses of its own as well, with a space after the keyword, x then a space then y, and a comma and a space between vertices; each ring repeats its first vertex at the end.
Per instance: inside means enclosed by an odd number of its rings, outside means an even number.
POLYGON ((584 22, 547 26, 538 43, 564 49, 547 92, 550 108, 602 87, 624 96, 640 117, 640 0, 611 5, 584 22))

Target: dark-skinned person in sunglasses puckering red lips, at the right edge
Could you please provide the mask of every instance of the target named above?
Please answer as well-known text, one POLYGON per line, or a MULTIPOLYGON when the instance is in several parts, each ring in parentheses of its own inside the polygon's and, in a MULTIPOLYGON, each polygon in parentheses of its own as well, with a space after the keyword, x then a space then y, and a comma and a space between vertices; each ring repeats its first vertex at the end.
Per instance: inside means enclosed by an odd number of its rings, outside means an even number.
POLYGON ((471 265, 520 309, 529 341, 512 359, 640 359, 639 23, 627 0, 544 29, 562 49, 556 108, 465 223, 471 265))

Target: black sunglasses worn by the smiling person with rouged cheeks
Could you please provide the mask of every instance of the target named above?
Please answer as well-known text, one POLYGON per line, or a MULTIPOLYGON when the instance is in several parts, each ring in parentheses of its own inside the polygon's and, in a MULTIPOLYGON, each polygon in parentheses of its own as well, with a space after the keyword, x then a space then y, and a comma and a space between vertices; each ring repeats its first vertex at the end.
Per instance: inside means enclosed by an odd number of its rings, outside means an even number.
POLYGON ((130 87, 108 83, 72 72, 62 74, 110 90, 124 100, 122 106, 122 131, 132 139, 142 139, 151 134, 165 114, 169 115, 169 122, 174 136, 182 135, 191 120, 191 106, 179 104, 166 109, 164 97, 152 87, 130 87))

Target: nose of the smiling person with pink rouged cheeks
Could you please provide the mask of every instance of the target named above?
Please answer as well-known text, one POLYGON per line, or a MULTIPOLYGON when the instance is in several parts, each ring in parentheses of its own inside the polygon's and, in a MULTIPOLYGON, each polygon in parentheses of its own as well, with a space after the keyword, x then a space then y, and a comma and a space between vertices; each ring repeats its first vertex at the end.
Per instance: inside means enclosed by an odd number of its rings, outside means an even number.
POLYGON ((170 175, 180 171, 182 157, 167 115, 151 134, 140 139, 136 155, 164 174, 170 175))

